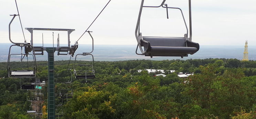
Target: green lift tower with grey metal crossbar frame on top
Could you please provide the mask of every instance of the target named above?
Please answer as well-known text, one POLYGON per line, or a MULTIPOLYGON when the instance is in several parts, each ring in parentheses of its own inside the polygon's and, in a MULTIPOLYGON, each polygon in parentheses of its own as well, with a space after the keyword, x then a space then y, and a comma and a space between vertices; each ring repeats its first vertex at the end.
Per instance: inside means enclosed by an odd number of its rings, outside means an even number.
MULTIPOLYGON (((35 55, 43 55, 44 51, 48 53, 48 119, 55 119, 55 94, 54 94, 54 53, 57 51, 57 55, 74 55, 74 52, 78 46, 76 44, 70 46, 70 33, 75 31, 74 29, 47 29, 47 28, 25 28, 31 33, 31 45, 34 47, 33 50, 35 55), (44 47, 44 46, 34 46, 33 45, 33 31, 43 30, 43 31, 67 31, 68 36, 68 46, 60 46, 59 37, 57 39, 57 47, 44 47)), ((54 40, 54 39, 53 39, 54 40)))

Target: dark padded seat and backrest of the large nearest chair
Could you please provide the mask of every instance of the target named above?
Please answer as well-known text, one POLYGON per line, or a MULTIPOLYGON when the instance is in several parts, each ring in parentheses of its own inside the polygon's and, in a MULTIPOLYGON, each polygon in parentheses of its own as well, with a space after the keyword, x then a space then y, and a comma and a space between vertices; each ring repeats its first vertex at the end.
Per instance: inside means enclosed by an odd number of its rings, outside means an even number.
POLYGON ((143 37, 141 46, 145 56, 188 56, 199 50, 199 44, 187 41, 185 37, 143 37))

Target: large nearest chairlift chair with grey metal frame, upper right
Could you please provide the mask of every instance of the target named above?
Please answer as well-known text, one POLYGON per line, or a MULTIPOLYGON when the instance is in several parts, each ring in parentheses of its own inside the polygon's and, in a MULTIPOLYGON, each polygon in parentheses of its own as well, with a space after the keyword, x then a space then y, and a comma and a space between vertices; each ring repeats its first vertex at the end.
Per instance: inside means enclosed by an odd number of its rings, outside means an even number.
POLYGON ((138 42, 136 48, 136 54, 150 56, 188 56, 188 54, 194 54, 199 50, 199 44, 192 42, 192 25, 191 25, 191 0, 189 0, 189 22, 190 22, 190 37, 188 37, 188 27, 186 25, 183 12, 180 8, 168 7, 164 4, 166 0, 163 0, 160 6, 143 6, 144 0, 141 0, 141 6, 138 16, 138 21, 135 30, 135 36, 138 42), (167 19, 168 9, 179 9, 181 11, 185 26, 186 34, 184 37, 156 37, 156 36, 142 36, 140 32, 140 18, 142 8, 166 8, 167 9, 167 19), (138 47, 141 54, 137 53, 138 47), (144 49, 142 48, 144 47, 144 49))

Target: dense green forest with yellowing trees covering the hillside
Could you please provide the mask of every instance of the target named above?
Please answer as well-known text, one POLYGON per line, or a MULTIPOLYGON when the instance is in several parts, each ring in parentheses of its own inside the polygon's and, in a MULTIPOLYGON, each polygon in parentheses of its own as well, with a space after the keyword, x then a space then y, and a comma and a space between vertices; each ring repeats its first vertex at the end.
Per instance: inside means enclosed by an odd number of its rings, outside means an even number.
MULTIPOLYGON (((90 61, 78 63, 92 64, 90 61)), ((47 62, 38 61, 37 78, 47 81, 47 62)), ((72 89, 73 98, 64 101, 64 119, 222 119, 256 118, 256 61, 237 59, 131 60, 95 62, 92 83, 81 83, 68 69, 68 61, 55 62, 55 93, 72 89), (176 70, 166 77, 153 77, 138 69, 176 70), (194 73, 179 78, 177 72, 194 73), (70 81, 72 85, 62 84, 70 81)), ((22 68, 18 62, 15 68, 22 68)), ((0 77, 8 77, 6 63, 0 63, 0 77)), ((73 70, 71 71, 73 72, 73 70)), ((34 79, 0 79, 0 118, 30 118, 26 115, 26 90, 20 84, 34 79)), ((43 87, 47 94, 47 86, 43 87)), ((47 106, 47 95, 43 97, 47 106)), ((56 95, 56 104, 61 104, 56 95)), ((46 112, 43 114, 46 117, 46 112)))

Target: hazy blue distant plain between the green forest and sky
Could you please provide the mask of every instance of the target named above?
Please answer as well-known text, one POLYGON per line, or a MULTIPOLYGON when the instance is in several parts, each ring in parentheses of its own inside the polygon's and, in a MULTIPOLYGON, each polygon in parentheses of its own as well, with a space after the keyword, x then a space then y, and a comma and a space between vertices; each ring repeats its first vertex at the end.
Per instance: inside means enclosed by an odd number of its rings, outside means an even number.
MULTIPOLYGON (((12 44, 1 43, 0 44, 0 62, 7 62, 9 47, 12 44)), ((36 44, 34 44, 36 45, 36 44)), ((44 44, 44 46, 51 47, 52 44, 44 44)), ((62 46, 62 45, 61 45, 62 46)), ((64 46, 64 45, 63 45, 64 46)), ((244 46, 225 46, 225 45, 202 45, 200 50, 188 57, 153 57, 136 55, 137 45, 94 45, 94 52, 92 53, 95 61, 124 61, 132 59, 150 59, 150 60, 166 60, 166 59, 205 59, 205 58, 236 58, 239 60, 243 59, 244 46)), ((79 44, 76 54, 83 52, 90 52, 92 49, 91 45, 79 44)), ((20 53, 19 47, 13 47, 11 53, 20 53)), ((140 51, 138 51, 140 52, 140 51)), ((255 46, 248 46, 248 57, 249 60, 256 60, 256 48, 255 46)), ((55 61, 57 60, 69 60, 70 55, 59 55, 55 52, 55 61)), ((72 60, 75 58, 72 57, 72 60)), ((89 56, 78 57, 78 60, 90 60, 89 56)), ((18 58, 16 59, 18 60, 18 58)), ((44 55, 36 55, 37 61, 46 61, 47 52, 44 51, 44 55)), ((15 61, 15 59, 13 60, 15 61)))

